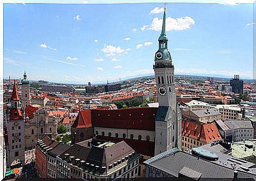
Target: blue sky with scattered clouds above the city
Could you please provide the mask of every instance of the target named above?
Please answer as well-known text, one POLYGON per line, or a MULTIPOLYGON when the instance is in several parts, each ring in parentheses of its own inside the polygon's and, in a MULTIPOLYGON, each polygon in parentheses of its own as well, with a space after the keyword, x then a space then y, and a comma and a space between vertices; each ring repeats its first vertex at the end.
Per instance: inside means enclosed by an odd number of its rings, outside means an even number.
MULTIPOLYGON (((4 4, 4 77, 26 70, 33 80, 86 84, 153 75, 163 7, 4 4)), ((168 3, 166 14, 175 74, 252 78, 252 4, 168 3)))

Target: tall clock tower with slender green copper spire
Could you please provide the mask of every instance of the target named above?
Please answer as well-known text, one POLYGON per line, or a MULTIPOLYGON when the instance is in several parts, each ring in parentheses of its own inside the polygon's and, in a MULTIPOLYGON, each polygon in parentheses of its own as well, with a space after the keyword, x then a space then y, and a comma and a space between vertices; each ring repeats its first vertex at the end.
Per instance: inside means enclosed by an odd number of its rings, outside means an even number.
POLYGON ((158 51, 155 54, 155 72, 159 107, 156 115, 155 155, 168 149, 181 148, 181 110, 176 101, 174 65, 168 51, 168 38, 165 32, 166 9, 162 32, 158 38, 158 51))

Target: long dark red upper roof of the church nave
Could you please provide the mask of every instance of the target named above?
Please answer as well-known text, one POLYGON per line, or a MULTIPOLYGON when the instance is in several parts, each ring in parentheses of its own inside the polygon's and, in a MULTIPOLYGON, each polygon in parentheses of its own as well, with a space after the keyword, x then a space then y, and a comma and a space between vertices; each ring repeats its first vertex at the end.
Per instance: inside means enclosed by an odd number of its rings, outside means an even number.
POLYGON ((128 109, 92 109, 92 125, 97 127, 155 131, 156 107, 128 109))

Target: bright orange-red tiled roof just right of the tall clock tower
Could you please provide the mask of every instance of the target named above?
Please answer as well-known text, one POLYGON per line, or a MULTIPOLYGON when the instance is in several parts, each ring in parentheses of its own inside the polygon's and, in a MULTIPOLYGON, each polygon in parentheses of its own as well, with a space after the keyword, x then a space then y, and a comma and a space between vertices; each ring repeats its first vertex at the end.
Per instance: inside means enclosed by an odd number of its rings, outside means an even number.
POLYGON ((189 120, 182 120, 182 135, 204 143, 221 139, 220 132, 214 122, 198 124, 189 120))

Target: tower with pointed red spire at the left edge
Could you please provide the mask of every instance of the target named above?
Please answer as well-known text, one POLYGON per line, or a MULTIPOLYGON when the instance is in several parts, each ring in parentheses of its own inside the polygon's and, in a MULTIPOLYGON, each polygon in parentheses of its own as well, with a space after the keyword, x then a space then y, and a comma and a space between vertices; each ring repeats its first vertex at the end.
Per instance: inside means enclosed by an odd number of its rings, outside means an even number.
POLYGON ((19 160, 24 164, 24 119, 21 112, 20 97, 18 96, 17 85, 15 82, 11 97, 10 119, 7 122, 7 133, 7 167, 10 167, 15 160, 19 160))

